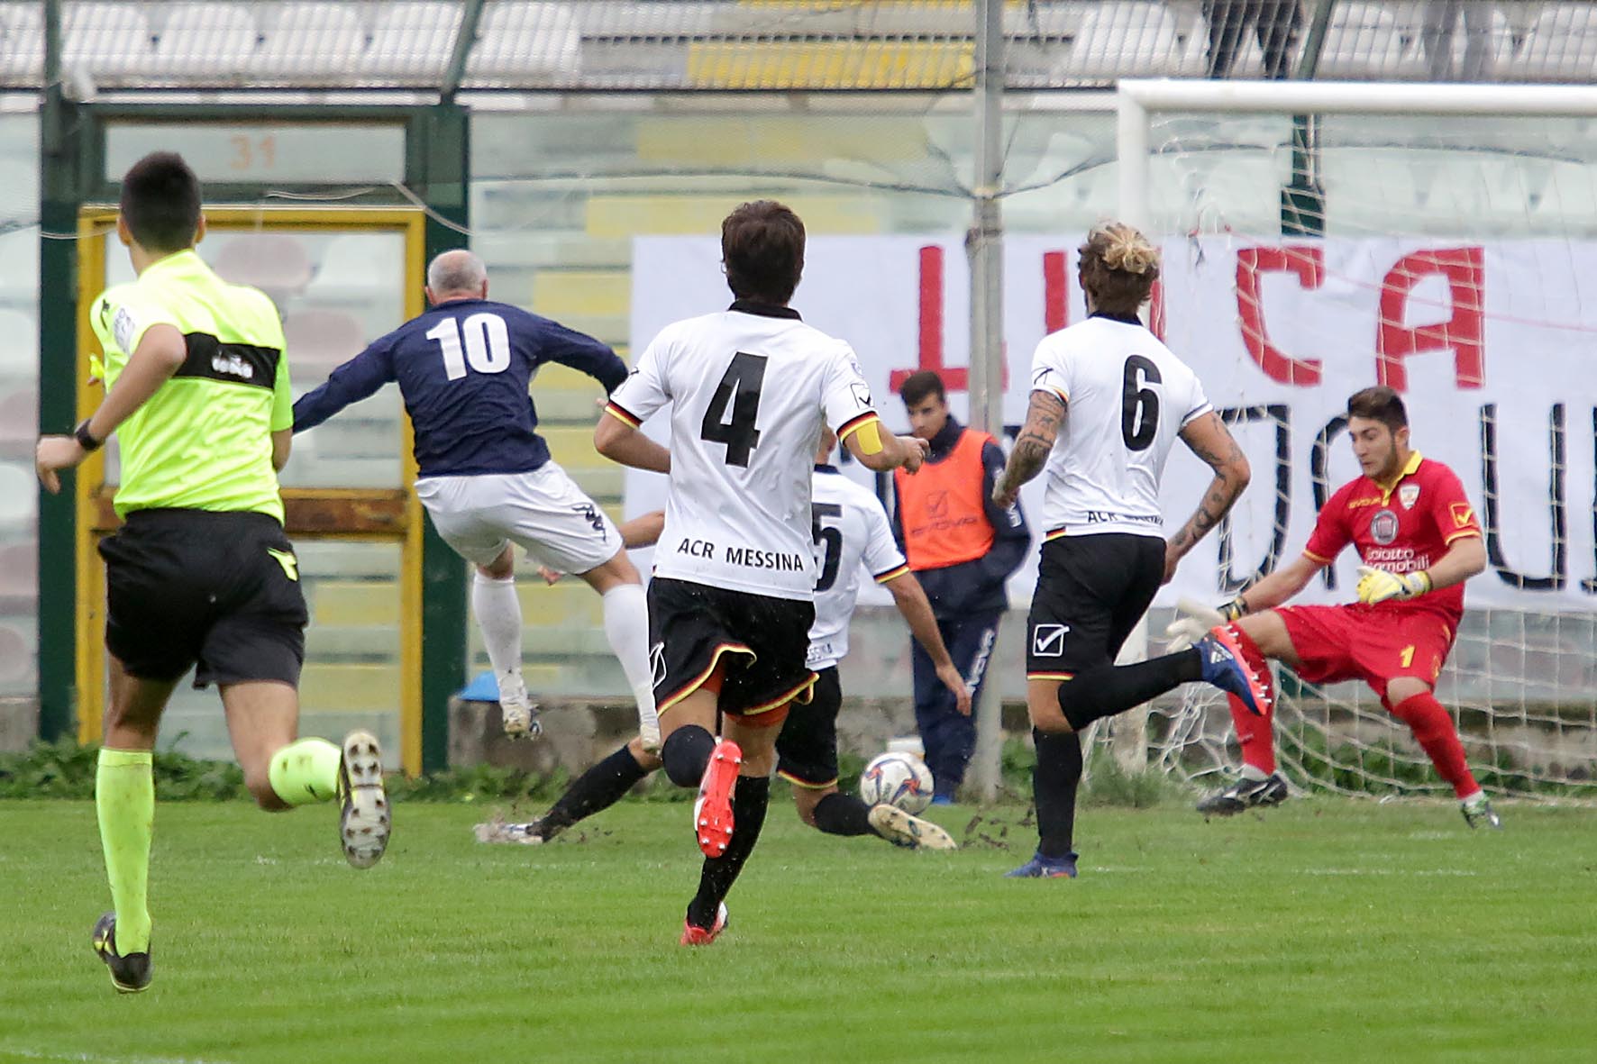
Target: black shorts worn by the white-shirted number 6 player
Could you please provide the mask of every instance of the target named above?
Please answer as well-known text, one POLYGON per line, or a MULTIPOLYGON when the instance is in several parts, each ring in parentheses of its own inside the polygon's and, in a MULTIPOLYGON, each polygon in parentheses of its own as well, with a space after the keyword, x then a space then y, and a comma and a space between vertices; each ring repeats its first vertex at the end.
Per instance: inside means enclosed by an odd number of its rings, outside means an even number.
POLYGON ((1065 681, 1113 665, 1163 578, 1159 537, 1049 534, 1025 618, 1027 679, 1065 681))

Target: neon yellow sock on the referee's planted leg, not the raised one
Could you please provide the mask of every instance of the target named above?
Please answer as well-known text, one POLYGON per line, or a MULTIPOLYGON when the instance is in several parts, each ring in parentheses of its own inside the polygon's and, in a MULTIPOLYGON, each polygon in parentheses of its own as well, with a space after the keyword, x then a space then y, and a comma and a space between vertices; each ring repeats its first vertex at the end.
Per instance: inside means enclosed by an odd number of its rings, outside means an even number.
POLYGON ((150 837, 155 834, 155 776, 147 749, 101 749, 94 808, 105 850, 105 879, 117 911, 117 951, 150 949, 150 837))

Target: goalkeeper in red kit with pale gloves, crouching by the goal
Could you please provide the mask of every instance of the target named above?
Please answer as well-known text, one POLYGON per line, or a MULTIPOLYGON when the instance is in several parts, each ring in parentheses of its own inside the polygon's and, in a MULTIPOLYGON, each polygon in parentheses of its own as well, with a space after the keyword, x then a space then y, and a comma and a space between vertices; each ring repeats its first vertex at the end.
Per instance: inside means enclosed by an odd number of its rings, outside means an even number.
MULTIPOLYGON (((1348 399, 1348 435, 1364 476, 1326 502, 1303 554, 1222 605, 1219 623, 1266 684, 1266 658, 1311 684, 1362 679, 1453 784, 1469 826, 1501 828, 1433 693, 1464 613, 1464 580, 1487 566, 1476 511, 1450 468, 1409 447, 1409 415, 1391 388, 1365 388, 1348 399), (1357 602, 1282 605, 1348 543, 1364 562, 1357 602)), ((1187 617, 1169 634, 1195 639, 1214 621, 1212 613, 1187 617)), ((1276 773, 1273 693, 1263 716, 1234 695, 1230 703, 1242 776, 1198 804, 1206 815, 1228 816, 1287 797, 1276 773)))

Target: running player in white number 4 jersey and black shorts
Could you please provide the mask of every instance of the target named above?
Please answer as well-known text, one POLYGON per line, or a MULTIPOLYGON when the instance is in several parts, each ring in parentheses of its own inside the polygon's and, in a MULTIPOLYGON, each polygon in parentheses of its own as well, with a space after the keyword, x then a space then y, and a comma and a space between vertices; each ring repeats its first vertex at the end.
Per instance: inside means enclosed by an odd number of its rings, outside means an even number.
POLYGON ((926 447, 882 435, 853 350, 787 307, 803 243, 803 222, 779 203, 727 216, 722 262, 736 302, 663 329, 594 431, 600 454, 671 474, 648 636, 666 775, 699 788, 693 824, 706 860, 688 946, 725 925, 722 901, 765 821, 778 727, 816 681, 805 665, 814 441, 834 428, 870 470, 920 468, 926 447), (668 403, 669 452, 637 431, 668 403))

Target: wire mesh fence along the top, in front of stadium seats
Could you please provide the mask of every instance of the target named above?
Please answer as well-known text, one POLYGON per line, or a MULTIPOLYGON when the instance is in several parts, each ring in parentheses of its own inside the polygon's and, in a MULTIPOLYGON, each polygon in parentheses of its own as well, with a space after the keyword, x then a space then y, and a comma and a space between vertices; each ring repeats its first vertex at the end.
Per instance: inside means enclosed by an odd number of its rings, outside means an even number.
MULTIPOLYGON (((974 81, 976 5, 942 0, 105 0, 61 5, 97 91, 941 91, 974 81)), ((46 5, 0 3, 0 88, 45 78, 46 5)), ((1028 0, 1014 89, 1118 77, 1589 81, 1597 11, 1536 0, 1028 0)))

